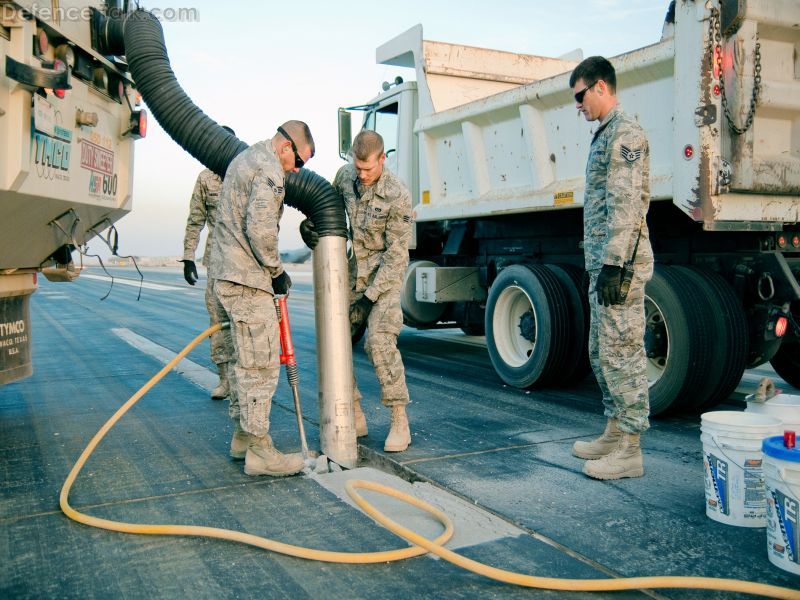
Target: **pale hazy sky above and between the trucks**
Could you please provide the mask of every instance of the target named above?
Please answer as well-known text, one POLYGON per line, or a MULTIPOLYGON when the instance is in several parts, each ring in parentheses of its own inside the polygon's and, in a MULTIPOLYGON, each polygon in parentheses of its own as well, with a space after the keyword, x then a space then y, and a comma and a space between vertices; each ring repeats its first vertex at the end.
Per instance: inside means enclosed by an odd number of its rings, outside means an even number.
MULTIPOLYGON (((344 164, 337 150, 337 109, 368 101, 398 74, 414 79, 411 70, 375 64, 375 49, 414 25, 422 24, 425 39, 441 42, 550 57, 578 48, 584 57, 614 56, 659 40, 669 0, 391 4, 141 2, 165 14, 168 8, 196 9, 196 21, 162 25, 172 68, 197 106, 248 144, 272 137, 288 119, 306 121, 317 147, 307 168, 332 180, 344 164)), ((150 117, 147 137, 135 143, 133 210, 117 222, 119 253, 178 257, 192 188, 203 167, 150 117)), ((359 126, 354 121, 354 132, 359 126)), ((302 218, 286 208, 281 251, 302 245, 297 231, 302 218)), ((96 240, 90 249, 108 254, 96 240)), ((202 245, 198 262, 201 256, 202 245)))

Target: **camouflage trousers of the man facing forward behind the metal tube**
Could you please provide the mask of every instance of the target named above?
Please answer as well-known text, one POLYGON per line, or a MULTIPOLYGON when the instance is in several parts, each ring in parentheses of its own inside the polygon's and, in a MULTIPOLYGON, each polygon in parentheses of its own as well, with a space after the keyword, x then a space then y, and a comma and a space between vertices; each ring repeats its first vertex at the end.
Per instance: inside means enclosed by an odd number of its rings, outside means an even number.
MULTIPOLYGON (((350 302, 360 296, 361 294, 351 293, 350 302)), ((409 401, 406 371, 397 349, 397 336, 402 327, 403 311, 400 308, 399 293, 383 294, 369 313, 364 351, 375 367, 375 375, 381 386, 381 403, 384 406, 406 405, 409 401)), ((360 402, 362 397, 353 371, 353 400, 360 402)))

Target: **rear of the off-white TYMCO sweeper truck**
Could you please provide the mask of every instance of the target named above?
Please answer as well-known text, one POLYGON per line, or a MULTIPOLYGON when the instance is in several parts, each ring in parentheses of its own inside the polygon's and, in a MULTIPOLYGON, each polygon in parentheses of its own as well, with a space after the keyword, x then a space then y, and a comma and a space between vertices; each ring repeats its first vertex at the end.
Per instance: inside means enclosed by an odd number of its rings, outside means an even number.
POLYGON ((73 251, 131 210, 147 113, 125 63, 95 50, 128 3, 91 4, 0 0, 0 384, 32 372, 37 273, 75 279, 73 251))

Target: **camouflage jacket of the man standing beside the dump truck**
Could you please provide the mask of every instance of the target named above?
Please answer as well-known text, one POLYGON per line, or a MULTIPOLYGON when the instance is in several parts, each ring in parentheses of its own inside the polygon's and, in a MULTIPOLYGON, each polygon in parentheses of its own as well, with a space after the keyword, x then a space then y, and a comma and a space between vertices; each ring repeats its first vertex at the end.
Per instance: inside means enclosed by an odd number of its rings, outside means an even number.
POLYGON ((614 107, 600 122, 586 164, 583 252, 586 269, 631 259, 641 227, 636 264, 653 262, 647 223, 650 147, 641 126, 614 107))

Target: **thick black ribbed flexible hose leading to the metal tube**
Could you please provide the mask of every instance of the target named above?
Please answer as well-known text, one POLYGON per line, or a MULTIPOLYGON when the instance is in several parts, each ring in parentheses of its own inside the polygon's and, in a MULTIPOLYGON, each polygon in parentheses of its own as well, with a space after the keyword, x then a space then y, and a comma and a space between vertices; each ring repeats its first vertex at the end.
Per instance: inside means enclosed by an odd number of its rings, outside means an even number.
MULTIPOLYGON (((159 20, 144 10, 121 18, 100 19, 100 51, 125 55, 142 98, 156 121, 189 154, 225 177, 233 159, 247 144, 224 130, 183 91, 169 63, 159 20)), ((312 171, 288 173, 285 202, 314 222, 319 235, 347 237, 344 202, 323 177, 312 171)))

